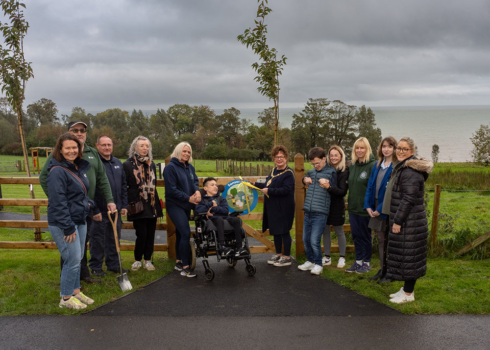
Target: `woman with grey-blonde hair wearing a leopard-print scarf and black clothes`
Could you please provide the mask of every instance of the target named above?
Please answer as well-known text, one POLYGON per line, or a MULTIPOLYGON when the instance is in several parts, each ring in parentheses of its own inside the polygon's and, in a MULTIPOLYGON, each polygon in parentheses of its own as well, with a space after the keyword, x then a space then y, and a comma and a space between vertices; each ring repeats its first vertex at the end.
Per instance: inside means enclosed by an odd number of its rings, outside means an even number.
POLYGON ((132 221, 136 233, 134 263, 131 270, 141 267, 155 270, 151 263, 157 218, 163 216, 162 205, 156 190, 156 167, 151 160, 151 143, 145 136, 134 138, 123 163, 127 182, 127 221, 132 221), (133 207, 134 209, 131 209, 133 207))

